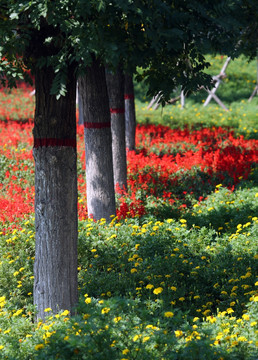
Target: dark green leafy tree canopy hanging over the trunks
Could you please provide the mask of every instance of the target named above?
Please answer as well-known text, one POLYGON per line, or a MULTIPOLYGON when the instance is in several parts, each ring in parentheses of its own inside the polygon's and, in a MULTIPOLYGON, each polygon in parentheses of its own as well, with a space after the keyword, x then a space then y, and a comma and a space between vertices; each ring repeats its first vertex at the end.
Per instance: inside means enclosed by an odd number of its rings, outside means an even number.
POLYGON ((52 92, 64 95, 68 67, 79 75, 95 56, 131 73, 144 68, 138 79, 152 94, 195 90, 210 82, 205 53, 256 52, 254 9, 252 0, 1 0, 1 81, 13 86, 27 69, 52 66, 52 92))

